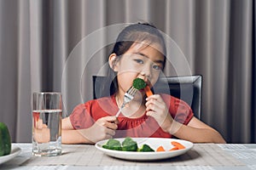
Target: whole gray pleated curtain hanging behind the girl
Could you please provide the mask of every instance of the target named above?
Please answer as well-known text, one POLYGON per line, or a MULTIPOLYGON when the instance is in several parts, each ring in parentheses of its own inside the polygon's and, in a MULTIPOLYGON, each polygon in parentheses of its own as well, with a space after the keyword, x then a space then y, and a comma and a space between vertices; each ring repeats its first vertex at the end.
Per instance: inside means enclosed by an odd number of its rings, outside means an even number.
POLYGON ((32 92, 62 92, 64 116, 92 99, 114 35, 137 21, 172 38, 186 61, 170 58, 178 75, 203 76, 201 120, 253 142, 253 0, 1 0, 0 122, 13 141, 31 142, 32 92))

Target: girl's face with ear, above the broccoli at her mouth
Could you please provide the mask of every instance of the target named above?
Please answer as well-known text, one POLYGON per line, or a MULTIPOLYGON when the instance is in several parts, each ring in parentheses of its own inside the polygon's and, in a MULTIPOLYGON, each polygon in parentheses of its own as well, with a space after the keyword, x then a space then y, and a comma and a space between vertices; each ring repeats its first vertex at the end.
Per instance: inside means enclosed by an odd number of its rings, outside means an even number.
POLYGON ((134 43, 122 56, 110 55, 109 60, 117 59, 113 71, 117 71, 119 92, 131 88, 135 78, 142 78, 150 87, 158 80, 164 66, 164 55, 158 43, 150 45, 134 43))

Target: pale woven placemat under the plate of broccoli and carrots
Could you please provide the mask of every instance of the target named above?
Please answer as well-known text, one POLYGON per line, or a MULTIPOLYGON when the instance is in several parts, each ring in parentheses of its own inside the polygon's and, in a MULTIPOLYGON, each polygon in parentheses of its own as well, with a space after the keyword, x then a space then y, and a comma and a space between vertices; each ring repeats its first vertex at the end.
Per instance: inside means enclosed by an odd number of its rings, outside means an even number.
POLYGON ((63 154, 55 157, 35 157, 22 163, 25 166, 244 166, 244 164, 222 150, 217 144, 195 144, 182 156, 160 161, 125 161, 106 156, 93 145, 63 145, 63 154))

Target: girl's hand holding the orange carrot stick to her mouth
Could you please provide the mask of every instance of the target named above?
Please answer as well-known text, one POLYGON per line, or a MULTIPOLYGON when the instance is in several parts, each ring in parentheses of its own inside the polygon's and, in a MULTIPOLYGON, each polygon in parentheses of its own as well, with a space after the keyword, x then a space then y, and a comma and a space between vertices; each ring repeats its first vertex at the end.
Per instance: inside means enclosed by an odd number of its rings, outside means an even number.
POLYGON ((163 131, 170 133, 173 118, 169 113, 168 107, 159 94, 154 94, 146 99, 146 115, 154 117, 163 131))

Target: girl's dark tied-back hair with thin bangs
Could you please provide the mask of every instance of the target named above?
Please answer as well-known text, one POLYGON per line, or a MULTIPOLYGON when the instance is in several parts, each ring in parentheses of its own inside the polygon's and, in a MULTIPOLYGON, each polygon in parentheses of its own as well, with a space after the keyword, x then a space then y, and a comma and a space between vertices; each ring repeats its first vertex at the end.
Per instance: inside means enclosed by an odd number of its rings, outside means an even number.
MULTIPOLYGON (((162 53, 164 55, 164 63, 166 64, 166 42, 160 31, 153 25, 148 23, 137 23, 130 26, 126 26, 123 31, 119 33, 117 40, 113 46, 111 54, 117 55, 117 60, 121 58, 125 52, 131 48, 131 45, 134 42, 146 42, 150 45, 153 42, 158 42, 162 47, 162 53)), ((116 77, 116 72, 114 72, 110 67, 108 68, 108 81, 105 82, 102 92, 105 92, 105 95, 112 95, 118 89, 118 82, 116 77), (108 94, 106 94, 108 93, 108 94)))

